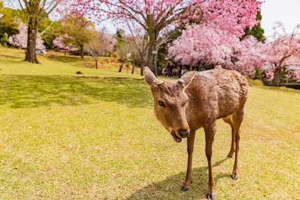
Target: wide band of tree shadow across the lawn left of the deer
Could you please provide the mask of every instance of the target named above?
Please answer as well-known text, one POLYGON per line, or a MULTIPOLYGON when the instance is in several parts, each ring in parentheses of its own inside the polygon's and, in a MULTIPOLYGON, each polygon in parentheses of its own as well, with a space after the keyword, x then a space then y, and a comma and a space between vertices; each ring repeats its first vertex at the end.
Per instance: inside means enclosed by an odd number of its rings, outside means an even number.
POLYGON ((76 76, 0 76, 0 105, 10 108, 72 105, 115 101, 128 107, 151 106, 142 79, 76 76))

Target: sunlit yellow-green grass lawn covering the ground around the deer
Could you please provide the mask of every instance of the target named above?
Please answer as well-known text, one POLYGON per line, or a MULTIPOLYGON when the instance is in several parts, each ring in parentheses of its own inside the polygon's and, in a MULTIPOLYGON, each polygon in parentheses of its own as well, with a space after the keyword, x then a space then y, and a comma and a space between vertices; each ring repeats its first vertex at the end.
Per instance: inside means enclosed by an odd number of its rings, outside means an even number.
MULTIPOLYGON (((108 58, 90 69, 89 59, 63 53, 29 65, 23 53, 0 48, 0 199, 204 199, 203 130, 192 188, 181 192, 186 140, 157 122, 141 76, 117 73, 108 58)), ((299 119, 299 90, 251 88, 238 181, 226 158, 230 127, 217 123, 217 199, 300 199, 299 119)))

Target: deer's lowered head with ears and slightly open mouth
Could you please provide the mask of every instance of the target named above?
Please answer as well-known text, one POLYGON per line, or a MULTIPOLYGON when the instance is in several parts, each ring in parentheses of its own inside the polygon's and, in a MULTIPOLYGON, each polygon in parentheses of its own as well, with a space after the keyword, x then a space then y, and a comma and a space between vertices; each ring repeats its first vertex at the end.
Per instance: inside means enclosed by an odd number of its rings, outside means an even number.
POLYGON ((192 82, 194 72, 185 74, 178 81, 160 81, 149 67, 144 67, 144 79, 153 94, 154 113, 158 121, 171 133, 176 142, 190 135, 190 127, 185 117, 188 95, 185 89, 192 82))

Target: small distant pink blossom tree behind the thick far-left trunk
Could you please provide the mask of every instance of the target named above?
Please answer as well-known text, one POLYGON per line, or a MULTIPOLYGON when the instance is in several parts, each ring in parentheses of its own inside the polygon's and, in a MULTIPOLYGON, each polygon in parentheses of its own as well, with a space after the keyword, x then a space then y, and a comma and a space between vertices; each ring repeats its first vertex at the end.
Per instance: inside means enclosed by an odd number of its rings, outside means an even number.
MULTIPOLYGON (((22 22, 21 20, 16 21, 15 23, 18 25, 18 31, 19 33, 16 35, 12 35, 8 38, 8 43, 12 46, 19 47, 22 49, 27 49, 27 26, 22 22)), ((42 40, 42 37, 39 33, 37 33, 37 38, 35 42, 35 49, 44 50, 46 47, 44 47, 44 41, 42 40)))

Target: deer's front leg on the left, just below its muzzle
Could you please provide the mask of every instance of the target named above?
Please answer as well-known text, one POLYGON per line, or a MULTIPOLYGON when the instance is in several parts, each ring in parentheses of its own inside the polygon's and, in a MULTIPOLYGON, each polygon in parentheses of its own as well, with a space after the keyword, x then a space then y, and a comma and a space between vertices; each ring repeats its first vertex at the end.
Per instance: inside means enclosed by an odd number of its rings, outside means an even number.
POLYGON ((185 176, 185 181, 181 186, 181 190, 188 191, 190 189, 190 183, 192 182, 192 153, 194 151, 194 137, 196 131, 191 131, 188 137, 188 170, 185 176))

